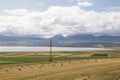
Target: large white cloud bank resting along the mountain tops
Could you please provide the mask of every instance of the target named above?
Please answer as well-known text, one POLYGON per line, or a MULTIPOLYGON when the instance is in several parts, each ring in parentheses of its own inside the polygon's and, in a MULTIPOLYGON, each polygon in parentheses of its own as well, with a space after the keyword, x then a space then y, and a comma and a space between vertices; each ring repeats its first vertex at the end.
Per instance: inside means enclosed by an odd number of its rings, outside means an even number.
POLYGON ((86 11, 78 6, 53 6, 44 12, 19 10, 7 10, 10 15, 0 16, 1 34, 120 35, 120 12, 86 11))

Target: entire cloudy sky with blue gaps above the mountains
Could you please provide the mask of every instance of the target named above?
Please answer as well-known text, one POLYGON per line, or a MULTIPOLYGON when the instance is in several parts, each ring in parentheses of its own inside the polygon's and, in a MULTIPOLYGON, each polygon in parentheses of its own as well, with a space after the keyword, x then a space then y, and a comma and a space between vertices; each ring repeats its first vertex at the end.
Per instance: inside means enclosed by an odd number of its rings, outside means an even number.
POLYGON ((0 0, 0 34, 120 36, 120 0, 0 0))

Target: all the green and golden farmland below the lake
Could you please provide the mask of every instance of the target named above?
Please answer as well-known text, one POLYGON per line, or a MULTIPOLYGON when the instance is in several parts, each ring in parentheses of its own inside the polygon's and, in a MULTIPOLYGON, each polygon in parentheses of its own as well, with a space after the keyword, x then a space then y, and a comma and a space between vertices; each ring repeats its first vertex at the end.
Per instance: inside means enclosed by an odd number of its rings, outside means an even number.
POLYGON ((0 53, 0 80, 120 80, 120 50, 0 53))

